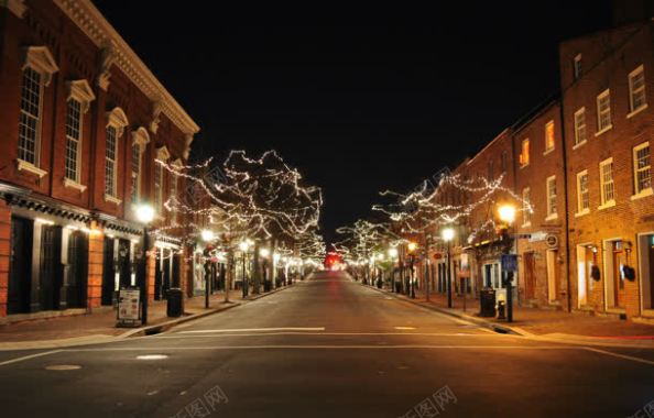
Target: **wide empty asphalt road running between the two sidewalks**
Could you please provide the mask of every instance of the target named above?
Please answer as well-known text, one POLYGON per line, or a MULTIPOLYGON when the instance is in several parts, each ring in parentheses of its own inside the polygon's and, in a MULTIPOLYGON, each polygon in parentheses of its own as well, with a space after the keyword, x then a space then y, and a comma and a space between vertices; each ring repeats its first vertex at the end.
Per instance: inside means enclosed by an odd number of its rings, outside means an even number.
POLYGON ((626 417, 654 400, 652 352, 493 333, 341 273, 167 333, 7 360, 3 417, 626 417))

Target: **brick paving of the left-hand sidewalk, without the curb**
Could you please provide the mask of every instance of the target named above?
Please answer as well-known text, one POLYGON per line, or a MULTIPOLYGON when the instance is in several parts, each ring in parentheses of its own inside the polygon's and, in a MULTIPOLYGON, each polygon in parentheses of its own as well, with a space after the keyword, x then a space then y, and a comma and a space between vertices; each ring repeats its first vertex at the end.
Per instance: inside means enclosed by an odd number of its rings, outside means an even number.
MULTIPOLYGON (((250 295, 253 296, 253 295, 250 295)), ((209 309, 205 309, 205 297, 194 296, 184 300, 184 317, 210 310, 224 309, 225 294, 216 293, 209 298, 209 309)), ((231 290, 229 300, 241 302, 241 292, 231 290)), ((148 307, 148 326, 173 320, 166 316, 166 301, 155 300, 148 307)), ((90 336, 118 337, 130 331, 130 328, 116 327, 116 309, 102 308, 90 315, 65 316, 47 319, 26 320, 22 322, 0 324, 1 342, 44 341, 84 338, 90 336)))

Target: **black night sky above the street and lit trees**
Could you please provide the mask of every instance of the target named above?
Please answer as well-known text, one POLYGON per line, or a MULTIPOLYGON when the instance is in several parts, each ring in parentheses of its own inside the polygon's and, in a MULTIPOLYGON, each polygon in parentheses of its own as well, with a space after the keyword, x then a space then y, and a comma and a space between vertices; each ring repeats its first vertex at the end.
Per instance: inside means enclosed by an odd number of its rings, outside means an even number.
POLYGON ((194 152, 277 150, 323 187, 328 239, 555 94, 558 42, 611 22, 608 0, 95 3, 200 125, 194 152))

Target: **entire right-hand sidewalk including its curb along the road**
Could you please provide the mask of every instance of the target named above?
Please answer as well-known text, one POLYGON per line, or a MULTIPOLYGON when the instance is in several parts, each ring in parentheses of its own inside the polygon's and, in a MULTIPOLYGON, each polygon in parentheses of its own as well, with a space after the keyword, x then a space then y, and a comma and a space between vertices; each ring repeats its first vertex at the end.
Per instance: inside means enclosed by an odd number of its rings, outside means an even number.
POLYGON ((473 299, 470 295, 465 301, 466 310, 464 311, 464 298, 456 295, 453 295, 453 308, 447 308, 447 297, 444 294, 430 294, 429 301, 426 301, 422 292, 416 293, 415 299, 411 299, 388 288, 378 290, 498 332, 543 341, 654 349, 654 326, 650 324, 515 305, 513 306, 513 322, 509 323, 504 319, 479 317, 479 299, 473 299))

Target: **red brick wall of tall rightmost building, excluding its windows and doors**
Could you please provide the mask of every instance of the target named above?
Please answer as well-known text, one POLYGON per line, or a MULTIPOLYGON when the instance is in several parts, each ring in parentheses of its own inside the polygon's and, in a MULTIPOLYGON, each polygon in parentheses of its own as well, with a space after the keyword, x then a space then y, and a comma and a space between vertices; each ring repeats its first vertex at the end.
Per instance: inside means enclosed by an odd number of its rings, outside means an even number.
MULTIPOLYGON (((603 310, 607 273, 603 257, 610 256, 603 251, 604 240, 621 239, 631 241, 633 252, 630 264, 636 268, 636 280, 625 283, 625 310, 629 317, 639 315, 640 279, 636 262, 636 233, 654 231, 651 215, 654 213, 654 197, 632 200, 633 157, 635 145, 652 141, 652 106, 654 105, 654 58, 652 50, 652 29, 650 24, 629 26, 613 32, 603 32, 592 36, 573 40, 562 44, 560 50, 562 88, 564 90, 565 135, 568 161, 569 193, 569 230, 570 260, 576 260, 577 244, 593 244, 599 249, 598 265, 601 280, 596 283, 591 295, 591 304, 603 310), (603 45, 607 45, 606 47, 603 45), (582 68, 579 80, 573 80, 571 59, 577 53, 582 54, 582 68), (628 75, 639 65, 644 65, 645 91, 650 107, 628 118, 629 82, 628 75), (596 136, 597 132, 597 95, 604 89, 611 91, 612 129, 596 136), (587 142, 574 147, 574 112, 586 108, 587 142), (613 177, 617 205, 612 208, 599 209, 600 176, 599 163, 613 158, 613 177), (588 169, 590 191, 590 213, 576 217, 577 212, 577 173, 588 169)), ((577 306, 577 265, 571 263, 570 279, 574 304, 577 306)), ((610 307, 610 302, 609 302, 610 307)))

